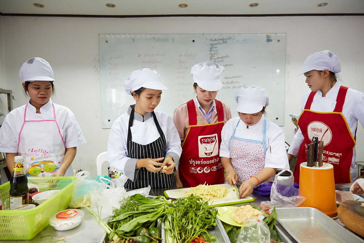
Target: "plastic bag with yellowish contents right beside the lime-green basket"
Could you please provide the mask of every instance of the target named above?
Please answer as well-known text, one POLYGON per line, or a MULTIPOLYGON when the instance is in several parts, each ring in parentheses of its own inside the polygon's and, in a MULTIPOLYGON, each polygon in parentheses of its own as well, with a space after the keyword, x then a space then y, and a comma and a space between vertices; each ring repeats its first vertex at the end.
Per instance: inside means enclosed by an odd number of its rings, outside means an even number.
POLYGON ((70 207, 73 208, 90 206, 92 193, 100 193, 107 188, 105 183, 92 180, 89 171, 78 172, 76 178, 78 180, 74 183, 70 203, 70 207))

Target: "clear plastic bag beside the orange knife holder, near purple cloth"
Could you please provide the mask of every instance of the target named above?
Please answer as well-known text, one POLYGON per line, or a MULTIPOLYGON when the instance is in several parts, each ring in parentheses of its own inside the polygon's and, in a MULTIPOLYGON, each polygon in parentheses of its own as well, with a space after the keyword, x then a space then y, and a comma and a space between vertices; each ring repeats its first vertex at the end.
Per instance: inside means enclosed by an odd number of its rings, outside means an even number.
POLYGON ((281 171, 276 175, 270 189, 270 201, 262 201, 260 207, 290 208, 297 207, 306 200, 306 197, 300 192, 300 189, 294 187, 293 172, 290 170, 281 171), (278 180, 281 173, 289 171, 291 175, 286 181, 278 180))

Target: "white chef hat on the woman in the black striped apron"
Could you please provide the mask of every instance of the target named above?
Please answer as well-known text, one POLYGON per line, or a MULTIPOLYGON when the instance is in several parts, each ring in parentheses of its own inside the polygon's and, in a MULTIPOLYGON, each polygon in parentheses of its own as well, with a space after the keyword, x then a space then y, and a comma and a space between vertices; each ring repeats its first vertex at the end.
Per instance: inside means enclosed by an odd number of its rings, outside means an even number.
POLYGON ((132 72, 130 77, 124 82, 124 89, 128 94, 132 94, 133 91, 141 87, 154 90, 168 90, 166 86, 162 85, 161 75, 149 68, 132 72))

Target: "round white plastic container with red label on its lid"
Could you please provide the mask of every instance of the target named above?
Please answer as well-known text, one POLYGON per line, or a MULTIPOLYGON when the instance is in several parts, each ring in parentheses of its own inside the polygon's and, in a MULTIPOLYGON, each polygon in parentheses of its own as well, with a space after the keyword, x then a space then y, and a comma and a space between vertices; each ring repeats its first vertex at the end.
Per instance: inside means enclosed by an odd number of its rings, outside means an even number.
POLYGON ((66 209, 49 218, 50 226, 55 230, 71 230, 80 225, 85 213, 80 209, 66 209))

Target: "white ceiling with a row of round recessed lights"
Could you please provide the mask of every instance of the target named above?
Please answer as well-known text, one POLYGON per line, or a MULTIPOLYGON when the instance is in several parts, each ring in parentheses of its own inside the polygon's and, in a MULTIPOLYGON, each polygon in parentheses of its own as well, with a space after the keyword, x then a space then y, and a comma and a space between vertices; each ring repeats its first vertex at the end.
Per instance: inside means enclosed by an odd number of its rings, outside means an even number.
POLYGON ((364 15, 364 0, 0 0, 1 15, 364 15), (33 4, 44 5, 43 8, 33 4), (107 7, 112 3, 114 8, 107 7), (258 3, 257 7, 249 4, 258 3), (318 4, 327 3, 325 7, 318 4), (186 8, 178 7, 187 4, 186 8))

